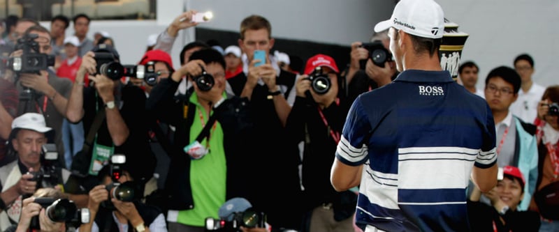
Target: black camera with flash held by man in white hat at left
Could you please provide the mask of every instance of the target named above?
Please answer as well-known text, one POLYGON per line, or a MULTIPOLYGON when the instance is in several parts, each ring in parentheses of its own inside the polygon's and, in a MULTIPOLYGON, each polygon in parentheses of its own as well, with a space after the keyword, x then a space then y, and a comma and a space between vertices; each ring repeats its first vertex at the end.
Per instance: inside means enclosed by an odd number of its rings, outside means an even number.
POLYGON ((54 187, 64 183, 58 173, 57 160, 58 152, 56 144, 43 145, 41 152, 41 169, 29 172, 33 175, 29 180, 37 182, 37 189, 41 187, 54 187), (48 186, 43 186, 43 182, 48 186))

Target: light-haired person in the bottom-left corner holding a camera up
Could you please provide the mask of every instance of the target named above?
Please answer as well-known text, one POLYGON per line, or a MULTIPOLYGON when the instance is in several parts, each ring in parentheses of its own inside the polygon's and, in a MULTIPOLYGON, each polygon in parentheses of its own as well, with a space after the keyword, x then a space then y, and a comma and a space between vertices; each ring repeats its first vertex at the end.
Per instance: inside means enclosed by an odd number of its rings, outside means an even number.
POLYGON ((36 203, 35 199, 39 197, 52 197, 54 199, 66 199, 59 190, 51 187, 38 189, 33 196, 23 200, 22 214, 20 222, 16 225, 10 226, 4 232, 26 232, 31 227, 31 219, 38 216, 39 226, 41 231, 64 232, 66 231, 66 224, 64 222, 52 222, 46 214, 45 208, 41 204, 36 203))

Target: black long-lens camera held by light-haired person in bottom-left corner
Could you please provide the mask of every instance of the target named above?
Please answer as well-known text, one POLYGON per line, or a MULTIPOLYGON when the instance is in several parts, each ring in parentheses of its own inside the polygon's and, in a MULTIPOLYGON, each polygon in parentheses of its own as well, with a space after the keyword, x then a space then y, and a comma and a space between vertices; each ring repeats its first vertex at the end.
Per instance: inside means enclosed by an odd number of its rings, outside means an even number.
MULTIPOLYGON (((78 227, 80 224, 89 223, 89 209, 75 206, 73 201, 68 199, 54 199, 52 197, 38 197, 34 199, 34 203, 38 203, 45 208, 45 215, 52 222, 66 222, 66 224, 78 227)), ((31 217, 29 229, 41 229, 39 217, 31 217)))

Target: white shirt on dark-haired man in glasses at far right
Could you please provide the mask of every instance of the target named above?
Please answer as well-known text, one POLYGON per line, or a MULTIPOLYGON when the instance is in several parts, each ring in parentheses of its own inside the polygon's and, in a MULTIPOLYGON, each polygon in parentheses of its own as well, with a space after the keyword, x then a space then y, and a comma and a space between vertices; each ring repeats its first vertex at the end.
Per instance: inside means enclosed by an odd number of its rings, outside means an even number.
POLYGON ((522 119, 525 123, 534 123, 537 117, 537 104, 542 100, 542 95, 546 88, 539 84, 532 83, 532 87, 526 93, 518 91, 518 98, 509 107, 509 110, 522 119))

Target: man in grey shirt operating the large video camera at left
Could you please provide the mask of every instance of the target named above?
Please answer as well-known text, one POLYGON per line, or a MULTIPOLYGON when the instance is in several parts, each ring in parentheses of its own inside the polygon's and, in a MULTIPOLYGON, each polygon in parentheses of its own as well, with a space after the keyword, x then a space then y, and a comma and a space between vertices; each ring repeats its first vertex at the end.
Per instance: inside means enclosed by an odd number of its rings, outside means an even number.
MULTIPOLYGON (((50 33, 45 27, 36 25, 29 27, 22 38, 18 40, 16 51, 10 56, 46 56, 51 52, 50 33), (36 37, 36 38, 34 38, 36 37)), ((57 133, 54 138, 49 138, 50 143, 57 144, 59 153, 59 165, 64 167, 64 144, 62 142, 62 121, 66 113, 67 97, 71 89, 71 81, 59 78, 50 68, 54 63, 50 59, 41 59, 40 62, 22 65, 22 70, 15 73, 12 70, 6 72, 6 79, 14 79, 17 91, 20 93, 18 115, 27 112, 38 112, 45 116, 47 125, 57 133), (35 71, 25 69, 41 70, 35 71), (26 89, 31 90, 28 92, 26 89)), ((52 59, 54 61, 54 59, 52 59)), ((29 62, 28 62, 29 63, 29 62)))

